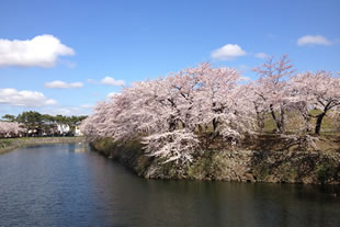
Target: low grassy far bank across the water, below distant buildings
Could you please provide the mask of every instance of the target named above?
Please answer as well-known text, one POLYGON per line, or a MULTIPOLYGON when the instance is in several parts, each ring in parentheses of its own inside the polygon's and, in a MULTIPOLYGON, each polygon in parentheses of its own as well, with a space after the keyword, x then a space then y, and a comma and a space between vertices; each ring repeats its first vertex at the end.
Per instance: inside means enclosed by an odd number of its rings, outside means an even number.
POLYGON ((84 137, 25 137, 25 138, 1 138, 0 154, 11 151, 22 146, 44 145, 44 144, 69 144, 86 141, 84 137))

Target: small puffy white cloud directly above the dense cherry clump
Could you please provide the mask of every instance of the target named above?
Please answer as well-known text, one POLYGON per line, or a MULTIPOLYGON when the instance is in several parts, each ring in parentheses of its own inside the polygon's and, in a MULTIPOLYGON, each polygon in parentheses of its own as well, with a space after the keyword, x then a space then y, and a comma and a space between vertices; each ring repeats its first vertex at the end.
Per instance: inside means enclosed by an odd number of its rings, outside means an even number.
POLYGON ((212 58, 217 60, 234 60, 245 55, 247 53, 237 44, 227 44, 212 52, 212 58))

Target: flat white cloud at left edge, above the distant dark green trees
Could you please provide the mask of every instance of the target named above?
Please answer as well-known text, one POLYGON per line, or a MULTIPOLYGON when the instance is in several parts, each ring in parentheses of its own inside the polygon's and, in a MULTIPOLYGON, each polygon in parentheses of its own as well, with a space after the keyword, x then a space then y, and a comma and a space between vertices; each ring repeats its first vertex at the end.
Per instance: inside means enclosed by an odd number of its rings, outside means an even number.
POLYGON ((43 93, 37 91, 18 91, 12 88, 0 89, 0 104, 38 107, 54 105, 56 103, 55 100, 47 99, 43 93))

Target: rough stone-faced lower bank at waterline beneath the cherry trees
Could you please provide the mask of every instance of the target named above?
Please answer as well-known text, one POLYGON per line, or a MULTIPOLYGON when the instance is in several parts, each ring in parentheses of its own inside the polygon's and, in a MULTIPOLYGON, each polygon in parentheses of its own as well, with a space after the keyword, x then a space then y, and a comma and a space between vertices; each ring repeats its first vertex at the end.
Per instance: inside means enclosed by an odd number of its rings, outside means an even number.
POLYGON ((148 157, 137 141, 91 143, 97 151, 113 158, 147 179, 220 180, 305 184, 339 184, 340 152, 248 149, 211 149, 186 166, 148 157))

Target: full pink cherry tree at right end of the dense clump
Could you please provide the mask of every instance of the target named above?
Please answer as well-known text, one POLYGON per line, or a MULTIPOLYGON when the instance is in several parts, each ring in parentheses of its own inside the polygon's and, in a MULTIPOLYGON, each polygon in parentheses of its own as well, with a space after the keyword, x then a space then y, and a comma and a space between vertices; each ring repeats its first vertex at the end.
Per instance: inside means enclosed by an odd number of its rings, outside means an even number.
POLYGON ((240 139, 253 130, 253 113, 247 86, 240 86, 241 76, 233 68, 207 67, 200 73, 196 104, 201 122, 212 124, 215 136, 240 139))

